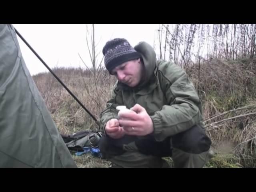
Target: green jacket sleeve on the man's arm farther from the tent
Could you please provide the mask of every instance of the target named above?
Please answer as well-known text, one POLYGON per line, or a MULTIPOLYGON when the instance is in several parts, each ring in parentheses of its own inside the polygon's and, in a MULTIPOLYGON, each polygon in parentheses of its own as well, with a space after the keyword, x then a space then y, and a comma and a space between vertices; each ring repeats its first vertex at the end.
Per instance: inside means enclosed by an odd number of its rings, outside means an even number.
POLYGON ((151 116, 157 141, 188 130, 201 119, 201 103, 187 74, 175 64, 162 65, 158 79, 167 104, 151 116))

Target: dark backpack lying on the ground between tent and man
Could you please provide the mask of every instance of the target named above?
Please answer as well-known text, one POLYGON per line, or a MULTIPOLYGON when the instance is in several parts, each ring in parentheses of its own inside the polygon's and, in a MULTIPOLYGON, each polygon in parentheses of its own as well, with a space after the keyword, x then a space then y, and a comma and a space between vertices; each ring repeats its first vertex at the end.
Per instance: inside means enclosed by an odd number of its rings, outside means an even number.
POLYGON ((83 152, 84 147, 97 148, 102 134, 101 132, 83 130, 69 135, 61 134, 61 136, 69 150, 83 152))

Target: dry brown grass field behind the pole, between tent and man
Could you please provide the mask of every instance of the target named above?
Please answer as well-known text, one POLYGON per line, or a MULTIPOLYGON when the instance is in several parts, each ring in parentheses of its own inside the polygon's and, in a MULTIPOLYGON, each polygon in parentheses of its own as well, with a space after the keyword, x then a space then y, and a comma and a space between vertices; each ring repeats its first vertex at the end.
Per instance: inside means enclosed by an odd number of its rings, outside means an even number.
MULTIPOLYGON (((106 71, 102 71, 95 83, 91 74, 86 70, 57 68, 53 71, 88 111, 98 119, 110 97, 114 78, 106 71)), ((33 78, 61 133, 72 134, 78 130, 97 128, 91 116, 52 74, 38 74, 33 78)))

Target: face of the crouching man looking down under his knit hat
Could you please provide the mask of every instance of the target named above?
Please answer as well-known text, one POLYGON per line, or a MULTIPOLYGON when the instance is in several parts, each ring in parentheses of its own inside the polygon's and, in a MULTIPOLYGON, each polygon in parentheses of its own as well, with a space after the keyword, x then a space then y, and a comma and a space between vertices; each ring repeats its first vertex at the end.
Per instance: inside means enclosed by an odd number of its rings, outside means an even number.
POLYGON ((140 58, 124 62, 111 71, 120 82, 135 87, 142 77, 142 63, 140 58))

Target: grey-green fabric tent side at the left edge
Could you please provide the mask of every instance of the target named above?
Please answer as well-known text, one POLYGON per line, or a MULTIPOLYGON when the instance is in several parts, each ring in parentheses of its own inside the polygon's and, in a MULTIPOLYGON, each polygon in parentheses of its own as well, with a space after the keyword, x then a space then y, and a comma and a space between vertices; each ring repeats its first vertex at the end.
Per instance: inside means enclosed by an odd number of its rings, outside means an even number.
POLYGON ((26 67, 11 24, 0 24, 0 167, 77 167, 26 67))

